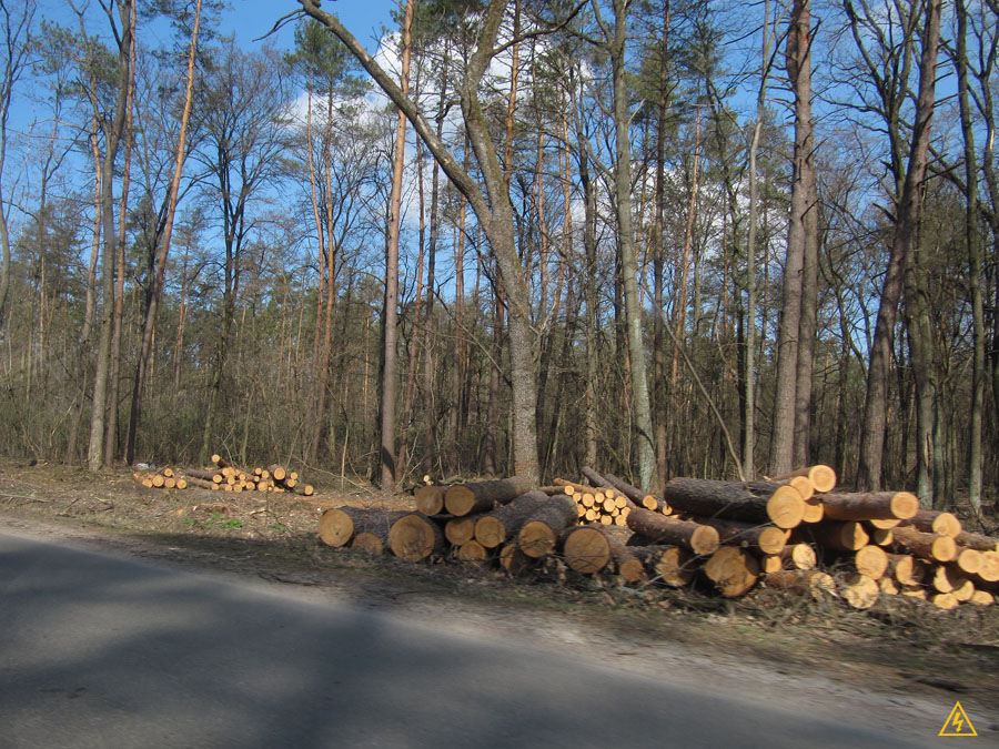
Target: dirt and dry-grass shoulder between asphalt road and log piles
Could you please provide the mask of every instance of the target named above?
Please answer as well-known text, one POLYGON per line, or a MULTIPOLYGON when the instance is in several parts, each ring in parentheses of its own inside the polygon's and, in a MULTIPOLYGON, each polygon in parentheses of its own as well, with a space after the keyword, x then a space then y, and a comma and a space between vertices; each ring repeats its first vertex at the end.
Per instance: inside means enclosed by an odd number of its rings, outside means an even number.
POLYGON ((322 486, 313 497, 153 490, 127 472, 0 463, 0 530, 253 576, 458 635, 529 637, 649 676, 682 674, 702 688, 794 695, 844 716, 862 710, 939 730, 959 699, 979 735, 999 735, 999 607, 945 613, 891 597, 854 611, 764 588, 725 600, 564 569, 511 579, 453 561, 412 565, 323 545, 320 514, 344 504, 403 509, 411 497, 322 486))

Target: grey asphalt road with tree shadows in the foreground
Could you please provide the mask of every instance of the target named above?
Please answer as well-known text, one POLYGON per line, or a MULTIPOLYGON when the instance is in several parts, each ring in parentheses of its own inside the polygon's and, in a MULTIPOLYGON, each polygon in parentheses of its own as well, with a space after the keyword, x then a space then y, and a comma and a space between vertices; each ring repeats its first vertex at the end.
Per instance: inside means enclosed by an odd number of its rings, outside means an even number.
MULTIPOLYGON (((0 747, 901 747, 585 656, 0 534, 0 747)), ((525 632, 529 642, 529 632, 525 632)))

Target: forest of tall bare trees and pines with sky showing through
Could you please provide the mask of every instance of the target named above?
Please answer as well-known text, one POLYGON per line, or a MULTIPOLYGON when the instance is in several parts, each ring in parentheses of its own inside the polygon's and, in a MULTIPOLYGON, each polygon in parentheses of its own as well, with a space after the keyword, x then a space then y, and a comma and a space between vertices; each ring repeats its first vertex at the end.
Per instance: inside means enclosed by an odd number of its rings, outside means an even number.
POLYGON ((7 456, 993 506, 997 0, 58 4, 0 0, 7 456))

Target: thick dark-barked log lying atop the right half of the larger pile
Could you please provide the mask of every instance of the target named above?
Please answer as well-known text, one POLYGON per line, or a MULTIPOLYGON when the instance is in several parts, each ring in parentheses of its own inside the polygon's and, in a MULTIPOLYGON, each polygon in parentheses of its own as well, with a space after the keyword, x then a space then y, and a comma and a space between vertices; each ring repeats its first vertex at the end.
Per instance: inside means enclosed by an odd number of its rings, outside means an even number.
POLYGON ((706 478, 674 478, 663 498, 674 508, 705 517, 766 523, 794 528, 805 516, 805 500, 785 484, 767 482, 717 482, 706 478))

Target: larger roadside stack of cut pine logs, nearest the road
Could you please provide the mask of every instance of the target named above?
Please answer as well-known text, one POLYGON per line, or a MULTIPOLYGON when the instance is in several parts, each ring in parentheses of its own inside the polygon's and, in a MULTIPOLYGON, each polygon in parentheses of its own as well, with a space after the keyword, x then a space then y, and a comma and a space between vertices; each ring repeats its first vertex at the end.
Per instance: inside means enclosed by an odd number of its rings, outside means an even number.
POLYGON ((963 532, 950 513, 919 509, 908 492, 835 493, 827 466, 766 482, 675 478, 662 497, 583 474, 586 484, 539 488, 516 476, 422 486, 415 512, 329 509, 320 536, 410 561, 450 546, 462 561, 496 560, 509 573, 555 559, 628 584, 703 580, 725 597, 761 584, 860 609, 880 595, 942 609, 989 605, 999 591, 999 540, 963 532))

